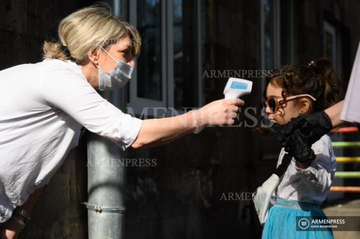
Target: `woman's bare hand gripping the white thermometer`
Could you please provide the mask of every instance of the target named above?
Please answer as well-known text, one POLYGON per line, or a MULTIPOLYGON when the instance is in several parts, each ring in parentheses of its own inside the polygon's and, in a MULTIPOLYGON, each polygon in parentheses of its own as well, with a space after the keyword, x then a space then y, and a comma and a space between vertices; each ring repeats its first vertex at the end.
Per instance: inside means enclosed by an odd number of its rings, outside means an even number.
POLYGON ((206 104, 196 112, 196 121, 201 126, 233 124, 238 107, 243 105, 241 99, 220 99, 206 104))

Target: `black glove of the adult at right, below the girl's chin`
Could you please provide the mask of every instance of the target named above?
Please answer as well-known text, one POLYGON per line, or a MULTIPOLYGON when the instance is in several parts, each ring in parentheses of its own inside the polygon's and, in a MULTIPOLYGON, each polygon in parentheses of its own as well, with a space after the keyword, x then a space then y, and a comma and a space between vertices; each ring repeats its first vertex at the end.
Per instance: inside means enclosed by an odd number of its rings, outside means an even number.
POLYGON ((290 122, 272 128, 281 134, 281 146, 298 162, 315 159, 311 145, 332 129, 329 116, 324 111, 291 118, 290 122))

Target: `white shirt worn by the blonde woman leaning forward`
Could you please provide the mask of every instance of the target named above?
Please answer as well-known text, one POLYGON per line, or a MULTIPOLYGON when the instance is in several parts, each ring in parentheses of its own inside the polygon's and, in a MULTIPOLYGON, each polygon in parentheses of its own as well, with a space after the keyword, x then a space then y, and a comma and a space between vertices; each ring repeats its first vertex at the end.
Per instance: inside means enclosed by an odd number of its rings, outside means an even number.
POLYGON ((0 222, 48 183, 78 143, 81 125, 122 149, 141 120, 102 98, 71 61, 45 59, 0 71, 0 222))

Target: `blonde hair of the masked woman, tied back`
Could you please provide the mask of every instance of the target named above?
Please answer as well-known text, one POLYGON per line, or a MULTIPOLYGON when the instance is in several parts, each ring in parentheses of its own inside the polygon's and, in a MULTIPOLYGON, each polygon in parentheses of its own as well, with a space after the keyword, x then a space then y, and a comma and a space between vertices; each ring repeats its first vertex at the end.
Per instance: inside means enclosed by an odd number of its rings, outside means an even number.
POLYGON ((95 49, 98 44, 106 49, 127 35, 131 40, 132 54, 137 56, 141 45, 137 29, 124 19, 113 15, 108 4, 91 5, 71 13, 60 21, 59 42, 44 41, 42 58, 71 59, 80 62, 87 59, 87 52, 95 49))

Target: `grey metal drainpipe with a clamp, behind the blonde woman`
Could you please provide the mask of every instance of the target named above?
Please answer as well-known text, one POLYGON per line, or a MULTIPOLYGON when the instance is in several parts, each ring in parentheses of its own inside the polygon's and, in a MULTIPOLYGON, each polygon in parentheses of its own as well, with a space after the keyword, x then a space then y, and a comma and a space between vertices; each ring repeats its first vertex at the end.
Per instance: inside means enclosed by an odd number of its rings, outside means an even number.
MULTIPOLYGON (((115 15, 121 12, 122 1, 113 0, 115 15)), ((101 91, 101 96, 116 107, 126 107, 126 87, 101 91)), ((125 175, 121 159, 126 158, 115 143, 97 134, 87 138, 87 207, 88 238, 124 238, 125 175)))

